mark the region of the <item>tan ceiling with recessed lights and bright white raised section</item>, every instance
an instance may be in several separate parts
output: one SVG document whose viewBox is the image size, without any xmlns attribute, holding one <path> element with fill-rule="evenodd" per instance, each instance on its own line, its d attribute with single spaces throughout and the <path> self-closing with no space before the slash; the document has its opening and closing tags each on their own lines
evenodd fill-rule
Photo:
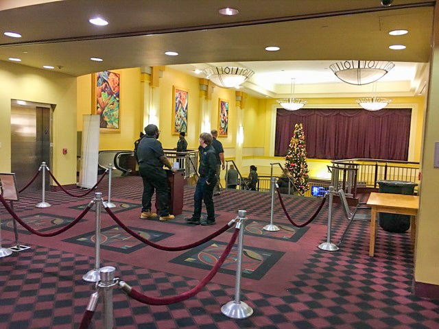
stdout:
<svg viewBox="0 0 439 329">
<path fill-rule="evenodd" d="M 226 62 L 255 72 L 243 90 L 256 97 L 287 97 L 292 77 L 300 97 L 368 95 L 371 85 L 340 82 L 329 65 L 390 60 L 396 65 L 377 83 L 377 95 L 413 96 L 428 79 L 435 2 L 394 0 L 384 7 L 380 0 L 3 0 L 0 60 L 52 65 L 73 76 L 156 65 L 196 75 L 195 69 Z M 239 14 L 219 14 L 226 6 Z M 91 25 L 94 16 L 109 24 Z M 390 36 L 393 29 L 409 33 Z M 6 31 L 22 37 L 4 36 Z M 388 48 L 394 44 L 407 48 Z M 281 49 L 265 51 L 272 45 Z"/>
</svg>

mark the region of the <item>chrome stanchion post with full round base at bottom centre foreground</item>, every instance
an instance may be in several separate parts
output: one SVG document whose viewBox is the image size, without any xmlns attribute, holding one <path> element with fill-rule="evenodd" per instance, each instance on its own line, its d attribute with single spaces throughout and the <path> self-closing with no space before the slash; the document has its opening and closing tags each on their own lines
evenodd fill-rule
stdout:
<svg viewBox="0 0 439 329">
<path fill-rule="evenodd" d="M 253 309 L 246 303 L 241 302 L 241 269 L 242 269 L 242 249 L 244 244 L 244 221 L 246 220 L 246 210 L 238 210 L 239 221 L 236 228 L 239 228 L 238 241 L 238 264 L 236 269 L 235 300 L 224 304 L 221 313 L 232 319 L 246 319 L 253 314 Z"/>
</svg>

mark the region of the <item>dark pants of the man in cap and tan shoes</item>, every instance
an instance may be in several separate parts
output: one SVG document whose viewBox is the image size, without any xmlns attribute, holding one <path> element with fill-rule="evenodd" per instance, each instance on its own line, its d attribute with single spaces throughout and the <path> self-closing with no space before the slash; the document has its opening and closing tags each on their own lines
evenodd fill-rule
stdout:
<svg viewBox="0 0 439 329">
<path fill-rule="evenodd" d="M 169 186 L 165 170 L 141 163 L 139 171 L 143 180 L 142 212 L 151 210 L 151 198 L 155 190 L 158 215 L 169 215 Z"/>
</svg>

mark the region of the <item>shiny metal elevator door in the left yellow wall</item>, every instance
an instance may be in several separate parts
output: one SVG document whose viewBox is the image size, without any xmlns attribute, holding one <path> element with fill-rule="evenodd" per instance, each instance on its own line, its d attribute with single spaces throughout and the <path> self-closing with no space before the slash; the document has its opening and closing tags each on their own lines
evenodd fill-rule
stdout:
<svg viewBox="0 0 439 329">
<path fill-rule="evenodd" d="M 41 162 L 50 168 L 50 109 L 38 106 L 11 106 L 11 169 L 17 189 L 32 180 Z M 41 173 L 28 191 L 40 191 Z M 49 175 L 46 173 L 46 188 Z"/>
</svg>

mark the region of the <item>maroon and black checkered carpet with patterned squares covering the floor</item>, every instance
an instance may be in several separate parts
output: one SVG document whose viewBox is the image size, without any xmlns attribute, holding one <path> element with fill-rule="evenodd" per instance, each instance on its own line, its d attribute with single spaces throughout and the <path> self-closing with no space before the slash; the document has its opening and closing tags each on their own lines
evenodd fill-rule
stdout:
<svg viewBox="0 0 439 329">
<path fill-rule="evenodd" d="M 104 198 L 106 182 L 97 188 Z M 324 252 L 317 246 L 327 239 L 327 206 L 309 226 L 297 229 L 285 219 L 276 199 L 273 219 L 281 231 L 266 232 L 261 228 L 270 221 L 270 195 L 224 190 L 214 198 L 216 226 L 187 226 L 184 217 L 193 210 L 193 187 L 185 187 L 183 214 L 167 222 L 138 218 L 141 188 L 139 177 L 114 178 L 112 202 L 117 208 L 112 210 L 132 230 L 162 245 L 201 239 L 235 218 L 237 210 L 247 210 L 241 299 L 254 314 L 235 320 L 220 312 L 234 298 L 234 249 L 222 271 L 185 302 L 145 306 L 116 290 L 117 328 L 439 328 L 439 300 L 412 294 L 410 232 L 379 229 L 371 258 L 368 222 L 355 221 L 340 251 Z M 30 226 L 47 232 L 75 219 L 93 193 L 78 199 L 62 191 L 46 192 L 51 207 L 34 208 L 40 199 L 41 195 L 24 192 L 14 209 Z M 297 223 L 306 221 L 320 204 L 319 199 L 292 196 L 285 196 L 284 202 Z M 3 207 L 0 218 L 3 247 L 10 247 L 14 234 Z M 361 210 L 358 218 L 368 219 L 368 210 Z M 335 204 L 333 243 L 340 241 L 346 225 L 342 208 Z M 89 212 L 77 226 L 53 238 L 23 234 L 19 227 L 20 242 L 31 249 L 0 258 L 0 328 L 78 328 L 93 292 L 93 285 L 82 276 L 95 262 L 94 226 L 95 212 Z M 102 265 L 115 266 L 118 277 L 151 296 L 176 295 L 195 287 L 231 236 L 229 230 L 202 247 L 163 252 L 133 240 L 106 214 L 102 234 L 106 236 Z M 93 318 L 96 328 L 102 326 L 101 307 L 99 303 Z"/>
</svg>

